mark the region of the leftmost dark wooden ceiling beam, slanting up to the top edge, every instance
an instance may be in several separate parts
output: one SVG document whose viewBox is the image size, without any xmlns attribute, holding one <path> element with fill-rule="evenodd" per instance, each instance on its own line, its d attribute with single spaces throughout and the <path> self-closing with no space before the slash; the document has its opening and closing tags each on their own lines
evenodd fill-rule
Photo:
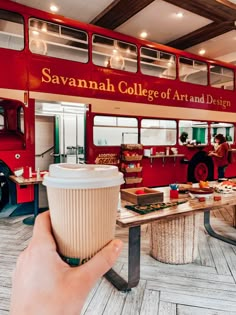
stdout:
<svg viewBox="0 0 236 315">
<path fill-rule="evenodd" d="M 116 0 L 90 24 L 114 30 L 155 0 Z"/>
</svg>

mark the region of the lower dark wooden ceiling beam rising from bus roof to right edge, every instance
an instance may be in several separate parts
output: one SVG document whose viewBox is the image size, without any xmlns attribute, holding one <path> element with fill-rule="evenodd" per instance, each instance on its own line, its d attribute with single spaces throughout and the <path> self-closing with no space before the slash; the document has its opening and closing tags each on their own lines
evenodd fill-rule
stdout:
<svg viewBox="0 0 236 315">
<path fill-rule="evenodd" d="M 213 22 L 208 24 L 192 33 L 189 33 L 183 37 L 166 43 L 167 46 L 171 46 L 178 49 L 187 49 L 194 45 L 205 42 L 211 38 L 230 32 L 235 29 L 233 21 L 217 23 Z"/>
</svg>

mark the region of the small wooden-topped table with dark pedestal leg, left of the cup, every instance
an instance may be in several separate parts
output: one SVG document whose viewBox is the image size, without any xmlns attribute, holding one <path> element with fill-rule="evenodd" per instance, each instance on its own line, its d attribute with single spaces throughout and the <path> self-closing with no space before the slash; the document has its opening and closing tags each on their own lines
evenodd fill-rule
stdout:
<svg viewBox="0 0 236 315">
<path fill-rule="evenodd" d="M 34 225 L 34 221 L 38 215 L 39 212 L 39 184 L 42 183 L 43 181 L 43 177 L 31 177 L 29 179 L 26 179 L 22 176 L 14 176 L 14 175 L 10 175 L 9 179 L 14 182 L 16 185 L 34 185 L 34 215 L 30 216 L 28 218 L 25 218 L 23 220 L 23 223 L 26 225 Z"/>
</svg>

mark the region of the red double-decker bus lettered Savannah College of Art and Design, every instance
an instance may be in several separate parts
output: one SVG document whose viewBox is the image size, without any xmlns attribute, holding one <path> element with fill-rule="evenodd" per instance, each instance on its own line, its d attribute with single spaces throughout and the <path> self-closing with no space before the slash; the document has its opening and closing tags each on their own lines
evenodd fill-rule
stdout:
<svg viewBox="0 0 236 315">
<path fill-rule="evenodd" d="M 7 177 L 27 165 L 120 165 L 121 144 L 141 143 L 142 185 L 160 186 L 215 179 L 217 133 L 234 151 L 234 65 L 7 0 L 0 21 L 2 207 Z"/>
</svg>

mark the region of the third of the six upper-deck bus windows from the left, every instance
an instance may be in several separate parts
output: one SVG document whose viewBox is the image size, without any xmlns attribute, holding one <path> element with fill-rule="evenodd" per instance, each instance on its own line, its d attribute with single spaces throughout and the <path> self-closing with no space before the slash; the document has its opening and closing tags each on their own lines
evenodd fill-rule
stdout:
<svg viewBox="0 0 236 315">
<path fill-rule="evenodd" d="M 137 47 L 133 44 L 93 35 L 92 56 L 97 66 L 137 72 Z"/>
</svg>

